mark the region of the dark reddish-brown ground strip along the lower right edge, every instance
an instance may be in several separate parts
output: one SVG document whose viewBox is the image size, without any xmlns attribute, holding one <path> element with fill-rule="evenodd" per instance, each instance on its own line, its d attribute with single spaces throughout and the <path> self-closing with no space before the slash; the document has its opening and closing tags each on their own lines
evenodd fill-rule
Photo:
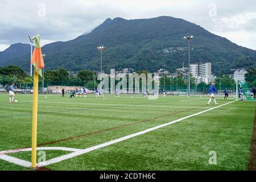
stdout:
<svg viewBox="0 0 256 182">
<path fill-rule="evenodd" d="M 248 171 L 256 171 L 256 106 L 253 123 L 253 135 L 251 136 L 250 158 L 247 169 Z"/>
</svg>

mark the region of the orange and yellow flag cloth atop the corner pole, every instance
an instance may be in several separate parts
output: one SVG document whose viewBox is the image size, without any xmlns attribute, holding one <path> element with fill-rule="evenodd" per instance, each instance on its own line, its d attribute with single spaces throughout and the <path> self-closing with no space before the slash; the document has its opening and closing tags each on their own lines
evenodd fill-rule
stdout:
<svg viewBox="0 0 256 182">
<path fill-rule="evenodd" d="M 35 41 L 35 49 L 31 57 L 31 64 L 34 65 L 35 71 L 42 77 L 42 69 L 44 68 L 44 61 L 42 56 L 42 49 L 40 46 L 40 35 L 36 35 L 32 38 Z"/>
</svg>

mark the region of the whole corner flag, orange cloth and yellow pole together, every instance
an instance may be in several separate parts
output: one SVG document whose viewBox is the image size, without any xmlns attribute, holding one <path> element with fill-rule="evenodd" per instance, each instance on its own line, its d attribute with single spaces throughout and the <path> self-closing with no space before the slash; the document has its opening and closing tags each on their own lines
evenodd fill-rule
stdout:
<svg viewBox="0 0 256 182">
<path fill-rule="evenodd" d="M 36 35 L 31 40 L 35 41 L 35 49 L 31 58 L 31 64 L 34 65 L 34 83 L 33 83 L 33 107 L 32 107 L 32 150 L 31 167 L 36 167 L 36 137 L 38 125 L 38 78 L 42 76 L 44 61 L 40 46 L 40 35 Z"/>
</svg>

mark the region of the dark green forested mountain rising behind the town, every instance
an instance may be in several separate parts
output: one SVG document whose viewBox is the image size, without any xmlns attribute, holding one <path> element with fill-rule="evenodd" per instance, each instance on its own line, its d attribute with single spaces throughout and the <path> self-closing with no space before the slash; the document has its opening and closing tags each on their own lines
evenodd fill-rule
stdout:
<svg viewBox="0 0 256 182">
<path fill-rule="evenodd" d="M 237 46 L 226 38 L 214 35 L 196 24 L 170 16 L 151 19 L 126 20 L 106 19 L 89 34 L 68 42 L 56 42 L 44 46 L 46 69 L 58 67 L 69 71 L 80 69 L 100 70 L 100 51 L 105 46 L 102 68 L 134 68 L 157 71 L 166 64 L 174 72 L 185 61 L 188 64 L 188 48 L 184 36 L 193 35 L 191 63 L 212 62 L 213 71 L 218 72 L 217 61 L 223 61 L 222 71 L 231 73 L 233 68 L 255 66 L 256 51 Z M 28 51 L 29 53 L 29 51 Z M 19 65 L 28 71 L 30 55 L 12 59 L 6 64 Z"/>
</svg>

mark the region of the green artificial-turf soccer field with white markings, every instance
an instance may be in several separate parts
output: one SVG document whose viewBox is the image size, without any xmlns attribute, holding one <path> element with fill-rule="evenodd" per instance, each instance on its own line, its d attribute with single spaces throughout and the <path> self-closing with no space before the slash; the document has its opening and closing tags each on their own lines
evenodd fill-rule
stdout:
<svg viewBox="0 0 256 182">
<path fill-rule="evenodd" d="M 31 147 L 32 95 L 15 99 L 0 94 L 0 170 L 30 170 L 31 151 L 20 148 Z M 38 158 L 45 152 L 49 170 L 247 170 L 255 102 L 208 100 L 40 95 Z"/>
</svg>

